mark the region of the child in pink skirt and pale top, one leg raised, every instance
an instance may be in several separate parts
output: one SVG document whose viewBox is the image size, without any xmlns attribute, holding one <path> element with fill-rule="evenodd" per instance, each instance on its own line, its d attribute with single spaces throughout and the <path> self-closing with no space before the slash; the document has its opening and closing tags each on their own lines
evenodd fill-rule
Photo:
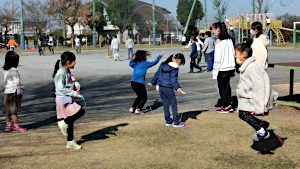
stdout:
<svg viewBox="0 0 300 169">
<path fill-rule="evenodd" d="M 80 91 L 80 84 L 71 76 L 70 69 L 74 69 L 76 64 L 75 55 L 71 52 L 64 52 L 60 59 L 56 62 L 53 78 L 55 83 L 56 95 L 56 111 L 58 126 L 63 133 L 67 136 L 67 148 L 81 149 L 73 140 L 74 134 L 74 121 L 84 115 L 85 111 L 74 102 L 71 97 L 78 97 Z M 61 63 L 61 67 L 59 67 Z M 74 90 L 76 88 L 76 90 Z"/>
</svg>

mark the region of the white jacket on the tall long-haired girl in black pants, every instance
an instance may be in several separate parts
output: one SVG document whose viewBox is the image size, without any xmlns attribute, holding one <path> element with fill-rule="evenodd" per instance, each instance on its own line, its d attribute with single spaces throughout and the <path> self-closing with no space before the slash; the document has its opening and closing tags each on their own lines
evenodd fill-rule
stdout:
<svg viewBox="0 0 300 169">
<path fill-rule="evenodd" d="M 219 71 L 235 69 L 235 51 L 231 39 L 222 40 L 215 45 L 213 79 L 217 79 Z"/>
</svg>

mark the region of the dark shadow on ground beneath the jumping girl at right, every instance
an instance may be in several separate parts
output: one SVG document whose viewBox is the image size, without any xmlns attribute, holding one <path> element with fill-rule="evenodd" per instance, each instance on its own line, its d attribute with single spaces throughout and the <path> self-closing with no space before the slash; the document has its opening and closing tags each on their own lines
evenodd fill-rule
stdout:
<svg viewBox="0 0 300 169">
<path fill-rule="evenodd" d="M 251 148 L 259 151 L 261 154 L 274 154 L 272 151 L 282 147 L 287 138 L 281 138 L 275 134 L 273 130 L 268 130 L 268 132 L 270 133 L 269 138 L 260 141 L 254 141 Z"/>
</svg>

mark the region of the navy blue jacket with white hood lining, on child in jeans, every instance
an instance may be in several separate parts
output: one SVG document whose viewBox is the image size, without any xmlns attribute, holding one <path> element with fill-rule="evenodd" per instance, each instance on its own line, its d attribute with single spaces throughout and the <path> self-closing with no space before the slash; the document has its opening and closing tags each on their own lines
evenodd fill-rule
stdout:
<svg viewBox="0 0 300 169">
<path fill-rule="evenodd" d="M 179 70 L 178 67 L 179 66 L 175 62 L 170 62 L 168 64 L 162 63 L 159 66 L 158 71 L 155 73 L 151 84 L 158 84 L 159 86 L 170 87 L 175 90 L 179 89 L 180 86 L 177 82 Z"/>
</svg>

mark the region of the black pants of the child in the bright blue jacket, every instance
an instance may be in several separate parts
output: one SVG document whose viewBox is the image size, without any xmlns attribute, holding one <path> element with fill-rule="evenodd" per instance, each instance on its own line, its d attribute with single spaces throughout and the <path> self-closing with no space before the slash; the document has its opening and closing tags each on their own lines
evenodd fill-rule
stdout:
<svg viewBox="0 0 300 169">
<path fill-rule="evenodd" d="M 132 107 L 142 109 L 147 101 L 147 91 L 145 85 L 142 83 L 137 83 L 131 81 L 131 87 L 135 91 L 136 95 L 138 96 L 134 102 Z"/>
</svg>

